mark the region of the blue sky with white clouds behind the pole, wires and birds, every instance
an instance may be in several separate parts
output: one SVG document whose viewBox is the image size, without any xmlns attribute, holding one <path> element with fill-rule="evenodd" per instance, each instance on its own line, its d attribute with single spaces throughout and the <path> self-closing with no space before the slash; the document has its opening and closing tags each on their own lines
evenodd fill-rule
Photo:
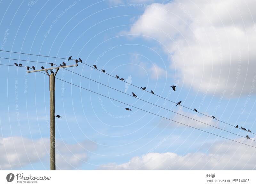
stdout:
<svg viewBox="0 0 256 186">
<path fill-rule="evenodd" d="M 253 0 L 0 1 L 1 50 L 18 52 L 0 51 L 0 64 L 41 69 L 63 61 L 19 52 L 81 58 L 255 132 L 254 5 Z M 57 78 L 79 87 L 56 79 L 55 113 L 62 116 L 56 118 L 57 170 L 256 169 L 254 134 L 82 63 L 68 70 L 123 93 L 59 70 Z M 48 170 L 48 76 L 4 65 L 0 72 L 0 170 Z M 165 109 L 124 94 L 132 92 Z"/>
</svg>

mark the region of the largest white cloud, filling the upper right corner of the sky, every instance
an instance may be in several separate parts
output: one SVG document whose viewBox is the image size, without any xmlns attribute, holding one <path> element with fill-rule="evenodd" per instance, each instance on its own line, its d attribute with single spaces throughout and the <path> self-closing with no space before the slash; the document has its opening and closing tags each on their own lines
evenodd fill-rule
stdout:
<svg viewBox="0 0 256 186">
<path fill-rule="evenodd" d="M 170 67 L 187 86 L 248 94 L 256 78 L 255 1 L 175 0 L 151 4 L 129 33 L 164 44 Z M 145 37 L 146 38 L 146 37 Z"/>
</svg>

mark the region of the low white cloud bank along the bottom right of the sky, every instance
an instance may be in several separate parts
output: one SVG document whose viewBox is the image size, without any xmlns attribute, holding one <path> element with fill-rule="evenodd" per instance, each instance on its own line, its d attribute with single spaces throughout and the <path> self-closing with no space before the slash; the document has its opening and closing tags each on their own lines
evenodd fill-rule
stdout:
<svg viewBox="0 0 256 186">
<path fill-rule="evenodd" d="M 238 141 L 250 144 L 247 139 Z M 253 145 L 253 143 L 251 143 Z M 209 145 L 208 145 L 209 146 Z M 105 170 L 256 170 L 256 149 L 236 142 L 215 142 L 209 153 L 148 153 L 129 162 L 102 165 Z"/>
</svg>

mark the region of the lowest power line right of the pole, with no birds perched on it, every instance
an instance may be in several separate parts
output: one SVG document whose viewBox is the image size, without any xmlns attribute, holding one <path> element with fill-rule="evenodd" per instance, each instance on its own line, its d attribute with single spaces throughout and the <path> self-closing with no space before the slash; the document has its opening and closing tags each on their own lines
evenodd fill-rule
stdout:
<svg viewBox="0 0 256 186">
<path fill-rule="evenodd" d="M 56 79 L 59 79 L 59 78 L 56 78 Z M 86 88 L 84 88 L 84 87 L 81 87 L 81 86 L 75 85 L 75 84 L 70 83 L 70 82 L 68 82 L 68 81 L 65 81 L 65 80 L 63 80 L 63 79 L 59 79 L 59 80 L 60 80 L 60 81 L 64 81 L 64 82 L 66 82 L 66 83 L 69 83 L 69 84 L 71 84 L 71 85 L 77 86 L 77 87 L 79 87 L 79 88 L 82 88 L 82 89 L 84 89 L 84 90 L 87 90 L 87 91 L 89 91 L 89 92 L 92 92 L 92 93 L 98 94 L 98 95 L 100 95 L 100 96 L 103 96 L 103 97 L 109 98 L 109 99 L 111 99 L 111 100 L 115 100 L 115 101 L 117 101 L 117 102 L 123 103 L 123 104 L 125 104 L 125 105 L 130 106 L 130 107 L 137 108 L 137 107 L 135 107 L 135 106 L 129 105 L 129 104 L 124 103 L 124 102 L 122 102 L 122 101 L 119 101 L 119 100 L 116 100 L 116 99 L 110 98 L 110 97 L 108 97 L 108 96 L 102 95 L 102 94 L 100 94 L 100 93 L 94 92 L 94 91 L 89 90 L 89 89 L 86 89 Z M 188 127 L 191 127 L 191 128 L 194 128 L 194 129 L 197 129 L 197 130 L 200 130 L 200 131 L 206 132 L 206 133 L 208 133 L 208 134 L 212 134 L 212 135 L 215 135 L 215 136 L 218 136 L 218 137 L 221 137 L 221 138 L 225 138 L 225 139 L 228 139 L 228 140 L 231 140 L 231 141 L 234 141 L 234 142 L 240 143 L 240 144 L 244 144 L 244 145 L 247 145 L 247 146 L 251 146 L 251 147 L 256 148 L 255 146 L 248 145 L 248 144 L 245 144 L 245 143 L 242 143 L 242 142 L 239 142 L 239 141 L 233 140 L 233 139 L 229 139 L 229 138 L 226 138 L 226 137 L 223 137 L 223 136 L 217 135 L 217 134 L 213 134 L 213 133 L 211 133 L 211 132 L 208 132 L 208 131 L 205 131 L 205 130 L 202 130 L 202 129 L 198 129 L 198 128 L 196 128 L 196 127 L 192 127 L 192 126 L 187 125 L 187 124 L 184 124 L 184 123 L 180 123 L 180 122 L 174 121 L 174 120 L 172 120 L 172 119 L 170 119 L 170 118 L 166 118 L 166 117 L 164 117 L 164 116 L 161 116 L 161 115 L 158 115 L 158 114 L 155 114 L 155 113 L 152 113 L 152 112 L 149 112 L 149 111 L 143 110 L 143 109 L 141 109 L 141 108 L 137 108 L 137 109 L 142 110 L 142 111 L 144 111 L 144 112 L 148 112 L 148 113 L 150 113 L 150 114 L 153 114 L 153 115 L 156 115 L 156 116 L 159 116 L 159 117 L 162 117 L 162 118 L 164 118 L 164 119 L 168 119 L 168 120 L 170 120 L 170 121 L 173 121 L 173 122 L 176 122 L 176 123 L 179 123 L 179 124 L 182 124 L 182 125 L 186 125 L 186 126 L 188 126 Z"/>
</svg>

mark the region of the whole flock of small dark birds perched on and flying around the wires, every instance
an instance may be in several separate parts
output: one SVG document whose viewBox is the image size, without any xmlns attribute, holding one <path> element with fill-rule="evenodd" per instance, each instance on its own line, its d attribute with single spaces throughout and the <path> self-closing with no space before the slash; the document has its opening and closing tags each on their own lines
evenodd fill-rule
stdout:
<svg viewBox="0 0 256 186">
<path fill-rule="evenodd" d="M 69 57 L 68 57 L 68 61 L 69 61 L 69 60 L 74 60 L 76 63 L 78 63 L 78 59 L 71 59 L 71 58 L 72 58 L 72 56 L 69 56 Z M 81 58 L 79 58 L 79 62 L 82 63 L 82 59 L 81 59 Z M 21 63 L 20 63 L 19 65 L 18 65 L 17 63 L 14 63 L 14 64 L 15 64 L 15 66 L 20 66 L 20 67 L 23 65 L 23 64 L 21 64 Z M 51 64 L 51 67 L 53 67 L 53 65 L 55 65 L 54 63 L 50 63 L 50 64 Z M 62 64 L 60 64 L 60 67 L 63 67 L 63 66 L 66 66 L 66 65 L 67 65 L 67 63 L 65 63 L 65 62 L 63 61 Z M 93 65 L 93 67 L 94 67 L 95 69 L 98 69 L 95 64 Z M 41 66 L 41 68 L 44 69 L 43 66 Z M 34 66 L 32 66 L 31 68 L 30 68 L 29 66 L 27 66 L 27 70 L 29 70 L 29 69 L 36 70 L 36 68 L 35 68 Z M 106 71 L 105 71 L 104 69 L 101 69 L 101 71 L 104 72 L 104 73 L 106 73 Z M 51 73 L 54 73 L 54 72 L 51 70 Z M 121 81 L 124 80 L 124 78 L 120 78 L 118 75 L 116 75 L 116 78 L 117 78 L 117 79 L 120 79 Z M 172 90 L 173 90 L 173 91 L 176 90 L 176 86 L 172 85 L 171 87 L 172 87 Z M 146 90 L 146 87 L 141 87 L 141 90 Z M 154 94 L 153 90 L 151 90 L 151 93 Z M 133 93 L 133 92 L 132 92 L 132 95 L 133 95 L 133 97 L 138 98 L 137 95 L 136 95 L 135 93 Z M 179 102 L 177 103 L 177 105 L 180 105 L 180 103 L 181 103 L 181 101 L 179 101 Z M 176 105 L 176 106 L 177 106 L 177 105 Z M 124 108 L 124 109 L 125 109 L 125 110 L 128 110 L 128 111 L 132 111 L 130 108 Z M 197 112 L 196 108 L 194 108 L 194 111 Z M 55 117 L 61 118 L 60 115 L 55 115 Z M 212 116 L 212 118 L 216 119 L 214 116 Z M 236 125 L 236 128 L 238 128 L 238 127 L 239 127 L 239 126 Z M 241 126 L 241 129 L 242 129 L 242 130 L 245 130 L 245 131 L 248 131 L 248 132 L 251 132 L 251 130 L 249 130 L 249 129 L 246 130 L 246 129 L 243 128 L 242 126 Z M 249 137 L 248 135 L 246 135 L 246 138 L 247 138 L 247 139 L 250 139 L 250 137 Z"/>
</svg>

